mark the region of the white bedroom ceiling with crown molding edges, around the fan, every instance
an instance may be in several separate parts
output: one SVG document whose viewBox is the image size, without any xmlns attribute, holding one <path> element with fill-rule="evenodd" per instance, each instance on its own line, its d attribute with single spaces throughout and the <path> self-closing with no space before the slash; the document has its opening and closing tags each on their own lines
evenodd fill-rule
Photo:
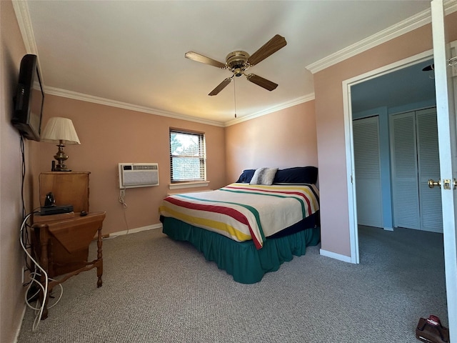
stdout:
<svg viewBox="0 0 457 343">
<path fill-rule="evenodd" d="M 313 74 L 430 21 L 430 1 L 16 1 L 45 93 L 210 124 L 233 124 L 313 99 Z M 378 34 L 381 32 L 381 34 Z M 184 58 L 225 63 L 275 34 L 287 45 L 249 69 L 273 91 Z M 384 38 L 384 41 L 386 39 Z M 236 114 L 234 120 L 235 93 Z"/>
</svg>

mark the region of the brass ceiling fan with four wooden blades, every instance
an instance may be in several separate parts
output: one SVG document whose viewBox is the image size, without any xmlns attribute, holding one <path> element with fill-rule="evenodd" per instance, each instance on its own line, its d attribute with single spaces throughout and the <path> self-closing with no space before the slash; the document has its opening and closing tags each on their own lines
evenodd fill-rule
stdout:
<svg viewBox="0 0 457 343">
<path fill-rule="evenodd" d="M 222 89 L 224 89 L 228 84 L 230 84 L 234 76 L 238 77 L 241 75 L 246 76 L 246 79 L 248 79 L 248 81 L 251 81 L 253 84 L 261 86 L 262 88 L 267 89 L 268 91 L 273 91 L 273 89 L 276 89 L 278 84 L 275 84 L 274 82 L 269 81 L 267 79 L 263 79 L 263 77 L 258 76 L 256 74 L 245 74 L 245 71 L 249 67 L 255 66 L 259 62 L 263 61 L 271 54 L 274 54 L 276 51 L 286 46 L 286 44 L 286 39 L 283 36 L 276 34 L 276 36 L 273 36 L 272 39 L 267 41 L 266 44 L 263 44 L 263 46 L 261 46 L 261 48 L 254 52 L 251 56 L 249 56 L 249 54 L 246 51 L 232 51 L 230 54 L 226 56 L 226 63 L 216 61 L 215 59 L 210 59 L 209 57 L 197 54 L 194 51 L 186 52 L 184 56 L 186 57 L 186 59 L 191 59 L 193 61 L 209 64 L 210 66 L 216 66 L 221 69 L 229 69 L 233 73 L 232 76 L 222 81 L 208 95 L 213 96 L 219 94 L 219 92 Z"/>
</svg>

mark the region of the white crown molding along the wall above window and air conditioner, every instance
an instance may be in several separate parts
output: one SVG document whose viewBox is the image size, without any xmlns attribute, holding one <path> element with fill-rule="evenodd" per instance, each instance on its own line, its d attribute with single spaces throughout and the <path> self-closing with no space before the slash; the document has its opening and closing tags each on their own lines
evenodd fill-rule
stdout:
<svg viewBox="0 0 457 343">
<path fill-rule="evenodd" d="M 184 114 L 176 114 L 174 112 L 162 111 L 160 109 L 153 109 L 151 107 L 138 106 L 138 105 L 128 104 L 126 102 L 101 98 L 99 96 L 82 94 L 82 93 L 78 93 L 76 91 L 67 91 L 65 89 L 58 89 L 58 88 L 54 88 L 54 87 L 44 86 L 44 93 L 49 94 L 49 95 L 62 96 L 64 98 L 69 98 L 69 99 L 74 99 L 74 100 L 92 102 L 94 104 L 118 107 L 119 109 L 129 109 L 131 111 L 155 114 L 157 116 L 167 116 L 169 118 L 174 118 L 174 119 L 194 121 L 194 122 L 200 123 L 200 124 L 224 127 L 224 124 L 221 123 L 220 121 L 206 120 L 206 119 L 196 118 L 194 116 L 186 116 Z"/>
</svg>

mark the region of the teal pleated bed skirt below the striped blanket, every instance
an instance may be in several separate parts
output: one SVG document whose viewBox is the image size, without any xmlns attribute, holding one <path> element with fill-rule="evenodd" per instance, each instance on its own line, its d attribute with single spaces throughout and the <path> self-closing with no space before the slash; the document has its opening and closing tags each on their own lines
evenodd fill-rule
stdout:
<svg viewBox="0 0 457 343">
<path fill-rule="evenodd" d="M 263 247 L 256 249 L 252 241 L 236 242 L 178 219 L 163 217 L 163 225 L 164 234 L 177 241 L 190 242 L 208 261 L 216 262 L 242 284 L 261 281 L 264 274 L 275 272 L 283 262 L 291 261 L 293 255 L 304 255 L 306 247 L 315 246 L 321 240 L 321 229 L 314 227 L 286 237 L 267 238 Z"/>
</svg>

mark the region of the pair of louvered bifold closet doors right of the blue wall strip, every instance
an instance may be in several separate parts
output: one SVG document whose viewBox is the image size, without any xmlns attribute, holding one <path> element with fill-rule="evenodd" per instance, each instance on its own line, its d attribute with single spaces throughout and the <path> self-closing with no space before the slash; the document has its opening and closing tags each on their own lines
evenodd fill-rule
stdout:
<svg viewBox="0 0 457 343">
<path fill-rule="evenodd" d="M 441 192 L 428 187 L 440 178 L 436 107 L 391 115 L 389 132 L 394 227 L 442 233 Z"/>
</svg>

